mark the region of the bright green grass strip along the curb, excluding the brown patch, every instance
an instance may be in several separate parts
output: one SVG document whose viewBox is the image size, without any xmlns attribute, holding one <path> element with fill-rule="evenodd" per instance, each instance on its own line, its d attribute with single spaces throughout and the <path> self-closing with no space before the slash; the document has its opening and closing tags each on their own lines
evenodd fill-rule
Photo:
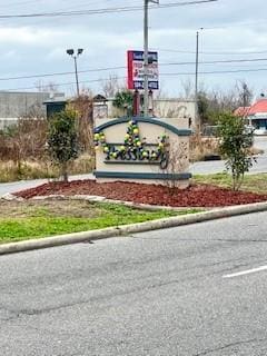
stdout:
<svg viewBox="0 0 267 356">
<path fill-rule="evenodd" d="M 32 209 L 24 209 L 28 212 L 23 217 L 14 217 L 12 219 L 0 217 L 0 244 L 83 230 L 96 230 L 201 211 L 201 209 L 148 211 L 122 205 L 99 202 L 90 204 L 90 209 L 97 211 L 96 216 L 91 218 L 60 217 L 59 212 L 55 215 L 48 207 L 39 207 L 34 210 L 34 214 L 32 214 Z"/>
</svg>

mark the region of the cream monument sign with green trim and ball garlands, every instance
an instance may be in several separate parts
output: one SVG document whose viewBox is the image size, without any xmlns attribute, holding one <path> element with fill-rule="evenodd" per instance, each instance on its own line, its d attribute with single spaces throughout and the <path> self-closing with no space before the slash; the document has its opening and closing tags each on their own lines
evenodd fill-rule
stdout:
<svg viewBox="0 0 267 356">
<path fill-rule="evenodd" d="M 187 172 L 190 130 L 178 126 L 178 119 L 135 117 L 97 120 L 96 178 L 157 184 L 176 179 L 182 187 L 187 186 L 190 178 Z M 179 150 L 182 148 L 182 162 L 176 168 L 170 160 L 177 147 Z"/>
</svg>

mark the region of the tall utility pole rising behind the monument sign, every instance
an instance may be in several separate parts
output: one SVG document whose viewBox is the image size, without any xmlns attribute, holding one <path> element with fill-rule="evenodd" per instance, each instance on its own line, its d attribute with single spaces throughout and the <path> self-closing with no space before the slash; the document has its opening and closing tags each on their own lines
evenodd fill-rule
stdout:
<svg viewBox="0 0 267 356">
<path fill-rule="evenodd" d="M 148 116 L 148 3 L 159 0 L 144 0 L 144 116 Z"/>
</svg>

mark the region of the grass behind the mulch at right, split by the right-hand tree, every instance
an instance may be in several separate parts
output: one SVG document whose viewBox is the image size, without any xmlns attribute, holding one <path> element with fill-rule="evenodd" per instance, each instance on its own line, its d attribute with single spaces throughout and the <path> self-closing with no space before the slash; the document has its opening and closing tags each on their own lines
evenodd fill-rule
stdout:
<svg viewBox="0 0 267 356">
<path fill-rule="evenodd" d="M 230 175 L 196 175 L 194 182 L 215 185 L 222 188 L 231 188 Z M 245 175 L 240 190 L 253 191 L 257 194 L 267 194 L 267 174 Z"/>
</svg>

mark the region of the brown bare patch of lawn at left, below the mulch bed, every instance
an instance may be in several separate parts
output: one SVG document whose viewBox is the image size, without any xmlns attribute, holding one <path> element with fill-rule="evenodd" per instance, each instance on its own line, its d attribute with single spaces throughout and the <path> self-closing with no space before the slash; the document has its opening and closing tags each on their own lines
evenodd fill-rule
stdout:
<svg viewBox="0 0 267 356">
<path fill-rule="evenodd" d="M 0 200 L 0 218 L 23 218 L 23 217 L 79 217 L 93 218 L 101 214 L 101 210 L 91 202 L 83 200 L 26 200 L 6 201 Z"/>
</svg>

